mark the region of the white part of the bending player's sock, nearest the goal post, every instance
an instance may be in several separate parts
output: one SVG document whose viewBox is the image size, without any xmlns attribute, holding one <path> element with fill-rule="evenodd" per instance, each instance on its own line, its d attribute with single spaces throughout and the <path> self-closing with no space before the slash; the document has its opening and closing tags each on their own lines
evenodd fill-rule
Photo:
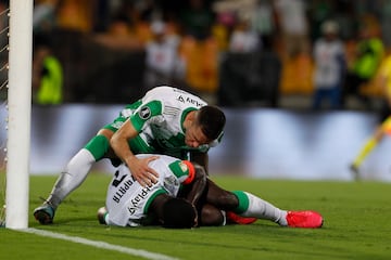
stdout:
<svg viewBox="0 0 391 260">
<path fill-rule="evenodd" d="M 70 193 L 76 190 L 86 180 L 93 162 L 96 160 L 92 154 L 86 148 L 80 150 L 58 178 L 48 198 L 50 205 L 56 208 Z"/>
</svg>

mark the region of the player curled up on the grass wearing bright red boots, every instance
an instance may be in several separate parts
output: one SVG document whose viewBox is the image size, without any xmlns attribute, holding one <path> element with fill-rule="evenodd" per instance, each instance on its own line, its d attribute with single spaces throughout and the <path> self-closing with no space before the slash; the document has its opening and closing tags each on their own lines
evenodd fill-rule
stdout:
<svg viewBox="0 0 391 260">
<path fill-rule="evenodd" d="M 119 166 L 109 185 L 105 207 L 98 211 L 100 223 L 138 226 L 152 223 L 168 225 L 168 221 L 172 227 L 189 227 L 189 223 L 193 226 L 224 225 L 226 212 L 235 212 L 252 218 L 252 222 L 265 219 L 281 226 L 320 227 L 323 224 L 321 216 L 315 211 L 286 211 L 251 193 L 225 191 L 212 182 L 203 167 L 197 164 L 159 155 L 149 166 L 159 172 L 159 180 L 147 187 L 131 177 L 129 168 Z M 184 203 L 179 205 L 180 199 L 174 199 L 180 196 L 195 206 L 192 207 L 194 214 L 190 213 L 191 207 L 184 206 Z M 174 202 L 171 207 L 175 210 L 167 210 L 167 202 Z"/>
</svg>

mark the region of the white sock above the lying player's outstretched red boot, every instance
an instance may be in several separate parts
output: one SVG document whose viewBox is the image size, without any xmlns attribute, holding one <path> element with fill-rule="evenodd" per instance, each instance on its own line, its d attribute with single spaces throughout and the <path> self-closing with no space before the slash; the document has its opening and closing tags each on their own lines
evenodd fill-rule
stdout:
<svg viewBox="0 0 391 260">
<path fill-rule="evenodd" d="M 251 193 L 244 192 L 244 194 L 249 197 L 249 208 L 241 216 L 272 220 L 279 225 L 288 225 L 286 210 L 281 210 Z"/>
</svg>

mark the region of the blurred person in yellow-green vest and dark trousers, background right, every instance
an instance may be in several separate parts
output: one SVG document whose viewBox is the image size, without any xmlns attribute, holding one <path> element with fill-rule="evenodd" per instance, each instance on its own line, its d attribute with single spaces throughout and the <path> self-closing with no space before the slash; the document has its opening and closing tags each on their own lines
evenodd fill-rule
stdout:
<svg viewBox="0 0 391 260">
<path fill-rule="evenodd" d="M 362 27 L 355 57 L 345 77 L 342 106 L 349 95 L 355 95 L 367 108 L 370 108 L 368 98 L 364 96 L 361 90 L 364 84 L 375 77 L 383 55 L 384 47 L 381 39 L 375 36 L 373 29 L 368 26 Z"/>
</svg>

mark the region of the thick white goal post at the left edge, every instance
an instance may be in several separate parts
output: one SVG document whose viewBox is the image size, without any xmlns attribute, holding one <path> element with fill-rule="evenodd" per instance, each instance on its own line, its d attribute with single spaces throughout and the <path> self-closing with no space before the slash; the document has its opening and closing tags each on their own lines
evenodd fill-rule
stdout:
<svg viewBox="0 0 391 260">
<path fill-rule="evenodd" d="M 28 227 L 34 0 L 10 0 L 5 227 Z"/>
</svg>

